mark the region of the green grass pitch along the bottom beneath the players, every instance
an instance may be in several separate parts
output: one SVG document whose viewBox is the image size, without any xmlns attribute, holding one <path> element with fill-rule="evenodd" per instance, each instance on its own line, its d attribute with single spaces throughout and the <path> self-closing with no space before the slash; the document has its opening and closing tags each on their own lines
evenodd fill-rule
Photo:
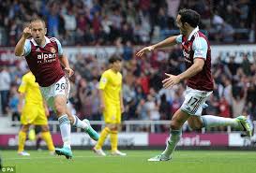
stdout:
<svg viewBox="0 0 256 173">
<path fill-rule="evenodd" d="M 173 160 L 152 163 L 147 158 L 160 151 L 126 151 L 128 156 L 100 157 L 92 151 L 73 151 L 74 157 L 49 155 L 47 151 L 1 151 L 4 166 L 16 173 L 255 173 L 256 151 L 175 151 Z M 109 152 L 107 152 L 109 153 Z"/>
</svg>

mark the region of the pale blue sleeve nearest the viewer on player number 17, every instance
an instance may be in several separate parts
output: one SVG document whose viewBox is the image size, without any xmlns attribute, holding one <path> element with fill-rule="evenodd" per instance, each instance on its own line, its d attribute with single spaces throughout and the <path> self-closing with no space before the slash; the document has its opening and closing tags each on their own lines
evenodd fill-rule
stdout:
<svg viewBox="0 0 256 173">
<path fill-rule="evenodd" d="M 194 50 L 194 58 L 203 58 L 206 60 L 208 45 L 203 37 L 196 37 L 193 41 L 192 49 Z"/>
</svg>

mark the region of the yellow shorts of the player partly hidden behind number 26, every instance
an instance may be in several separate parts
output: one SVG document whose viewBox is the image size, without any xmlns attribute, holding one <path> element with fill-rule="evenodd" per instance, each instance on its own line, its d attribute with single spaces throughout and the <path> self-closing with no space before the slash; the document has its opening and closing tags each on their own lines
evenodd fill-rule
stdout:
<svg viewBox="0 0 256 173">
<path fill-rule="evenodd" d="M 45 109 L 43 106 L 38 106 L 36 104 L 25 104 L 23 107 L 21 123 L 23 125 L 47 125 L 47 117 L 45 115 Z"/>
</svg>

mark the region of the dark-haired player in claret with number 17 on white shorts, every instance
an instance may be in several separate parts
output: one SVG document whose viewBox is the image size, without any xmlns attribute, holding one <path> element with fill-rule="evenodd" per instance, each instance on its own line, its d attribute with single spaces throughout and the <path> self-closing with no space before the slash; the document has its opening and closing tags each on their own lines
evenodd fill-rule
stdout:
<svg viewBox="0 0 256 173">
<path fill-rule="evenodd" d="M 199 22 L 200 15 L 196 11 L 181 9 L 176 18 L 176 24 L 181 35 L 168 37 L 136 53 L 138 57 L 142 57 L 147 51 L 181 44 L 187 65 L 185 72 L 177 76 L 166 74 L 167 78 L 162 81 L 163 87 L 166 89 L 172 88 L 173 85 L 185 79 L 187 79 L 188 86 L 183 105 L 173 115 L 171 134 L 165 151 L 148 159 L 148 161 L 168 161 L 172 158 L 173 151 L 181 137 L 182 125 L 187 120 L 193 129 L 231 125 L 251 136 L 249 124 L 244 116 L 238 116 L 235 119 L 213 115 L 201 116 L 204 102 L 213 93 L 213 79 L 211 75 L 211 49 L 206 36 L 199 31 Z"/>
</svg>

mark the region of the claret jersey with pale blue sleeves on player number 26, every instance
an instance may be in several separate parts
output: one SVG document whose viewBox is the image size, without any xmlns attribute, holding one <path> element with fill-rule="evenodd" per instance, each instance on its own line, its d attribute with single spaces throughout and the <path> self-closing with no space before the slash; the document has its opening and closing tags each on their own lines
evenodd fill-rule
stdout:
<svg viewBox="0 0 256 173">
<path fill-rule="evenodd" d="M 23 54 L 41 87 L 50 86 L 65 76 L 59 62 L 59 57 L 63 55 L 59 40 L 47 36 L 45 36 L 45 39 L 44 46 L 38 46 L 33 38 L 26 39 Z"/>
</svg>

